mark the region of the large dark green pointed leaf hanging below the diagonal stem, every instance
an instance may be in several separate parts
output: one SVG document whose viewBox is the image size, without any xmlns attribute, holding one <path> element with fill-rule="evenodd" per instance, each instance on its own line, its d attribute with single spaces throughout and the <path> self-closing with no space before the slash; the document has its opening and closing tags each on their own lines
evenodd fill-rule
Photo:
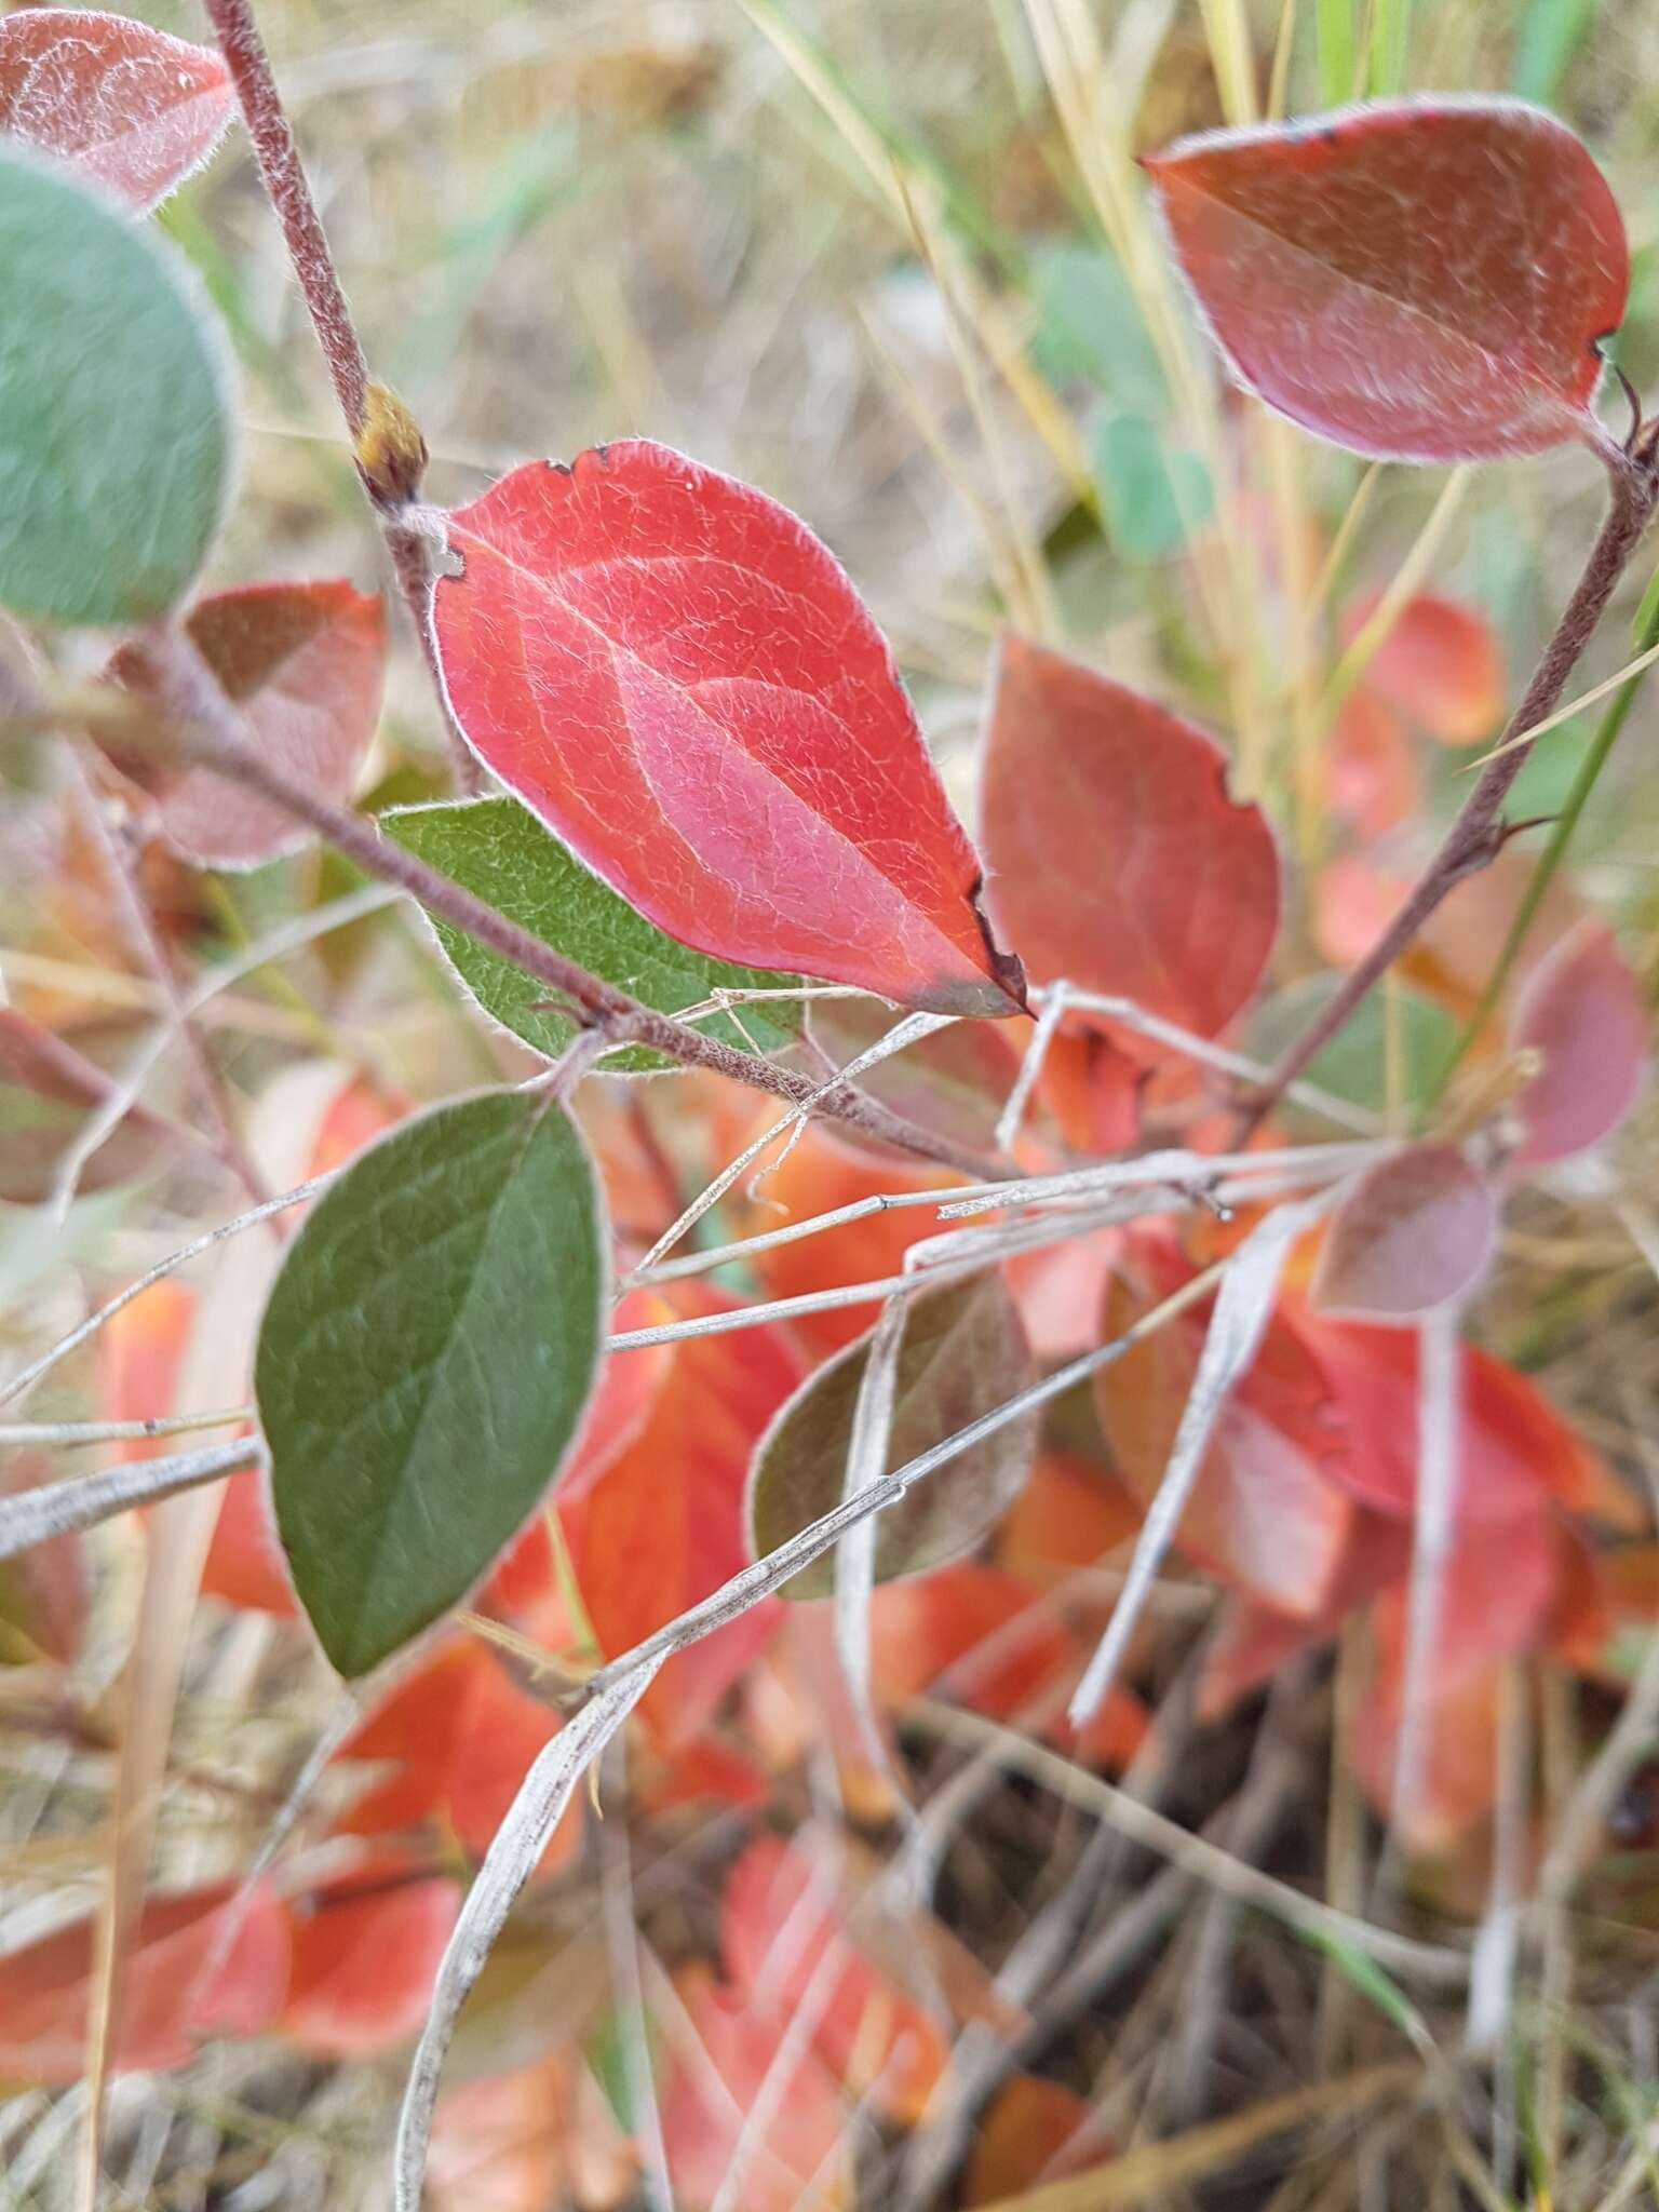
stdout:
<svg viewBox="0 0 1659 2212">
<path fill-rule="evenodd" d="M 254 1394 L 294 1588 L 341 1674 L 465 1597 L 553 1482 L 608 1294 L 593 1161 L 533 1093 L 405 1121 L 319 1201 Z"/>
</svg>

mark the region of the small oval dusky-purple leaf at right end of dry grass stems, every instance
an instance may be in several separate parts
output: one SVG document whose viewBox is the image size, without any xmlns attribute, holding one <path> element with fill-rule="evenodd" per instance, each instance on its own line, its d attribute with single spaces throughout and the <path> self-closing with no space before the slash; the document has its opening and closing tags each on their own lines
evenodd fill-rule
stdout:
<svg viewBox="0 0 1659 2212">
<path fill-rule="evenodd" d="M 1407 1321 L 1471 1290 L 1498 1243 L 1491 1183 L 1455 1144 L 1413 1144 L 1343 1199 L 1314 1276 L 1314 1305 Z"/>
</svg>

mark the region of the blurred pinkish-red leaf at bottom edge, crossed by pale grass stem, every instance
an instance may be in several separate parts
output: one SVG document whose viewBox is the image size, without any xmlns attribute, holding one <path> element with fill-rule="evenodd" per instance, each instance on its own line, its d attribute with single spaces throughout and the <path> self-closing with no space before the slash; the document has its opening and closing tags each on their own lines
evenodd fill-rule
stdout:
<svg viewBox="0 0 1659 2212">
<path fill-rule="evenodd" d="M 752 2126 L 787 2022 L 781 2011 L 761 2011 L 719 1989 L 701 1969 L 679 1975 L 679 2000 L 695 2044 L 688 2039 L 675 2055 L 661 2099 L 661 2137 L 675 2203 L 706 2212 L 721 2197 L 737 2146 Z M 852 2139 L 836 2084 L 810 2051 L 781 2064 L 783 2090 L 770 2101 L 743 2174 L 743 2212 L 845 2212 Z"/>
</svg>

